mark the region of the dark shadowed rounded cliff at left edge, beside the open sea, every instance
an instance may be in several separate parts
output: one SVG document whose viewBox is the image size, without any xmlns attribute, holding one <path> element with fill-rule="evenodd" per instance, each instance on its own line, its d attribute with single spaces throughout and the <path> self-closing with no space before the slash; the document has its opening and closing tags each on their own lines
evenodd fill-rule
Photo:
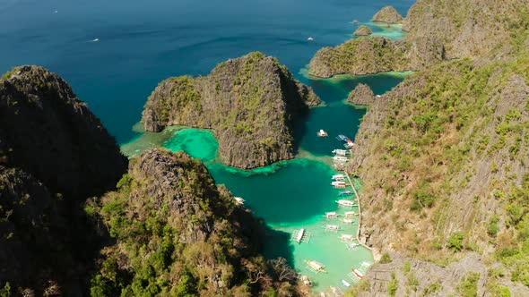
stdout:
<svg viewBox="0 0 529 297">
<path fill-rule="evenodd" d="M 126 170 L 116 141 L 57 74 L 37 66 L 0 80 L 0 157 L 68 199 L 114 187 Z"/>
</svg>

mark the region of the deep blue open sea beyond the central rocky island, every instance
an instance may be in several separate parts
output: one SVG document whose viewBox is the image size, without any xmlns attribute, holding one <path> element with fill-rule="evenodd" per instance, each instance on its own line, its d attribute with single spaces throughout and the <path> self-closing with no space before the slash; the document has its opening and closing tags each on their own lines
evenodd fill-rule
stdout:
<svg viewBox="0 0 529 297">
<path fill-rule="evenodd" d="M 58 72 L 123 143 L 169 76 L 207 74 L 256 50 L 297 74 L 317 49 L 350 38 L 352 20 L 367 22 L 386 4 L 404 15 L 412 2 L 2 0 L 0 72 L 21 64 Z"/>
</svg>

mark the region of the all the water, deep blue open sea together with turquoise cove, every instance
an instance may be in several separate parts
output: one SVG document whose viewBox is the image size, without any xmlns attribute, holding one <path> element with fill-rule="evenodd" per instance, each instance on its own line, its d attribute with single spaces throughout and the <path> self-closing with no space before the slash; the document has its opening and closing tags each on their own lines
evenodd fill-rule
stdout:
<svg viewBox="0 0 529 297">
<path fill-rule="evenodd" d="M 372 261 L 369 250 L 347 250 L 339 236 L 356 232 L 355 225 L 326 221 L 328 211 L 343 213 L 330 187 L 335 174 L 329 154 L 339 148 L 336 134 L 354 138 L 365 109 L 344 103 L 351 89 L 367 83 L 382 94 L 403 80 L 383 73 L 320 80 L 306 75 L 306 65 L 321 47 L 351 38 L 358 25 L 386 4 L 403 15 L 413 0 L 2 0 L 0 1 L 0 72 L 20 64 L 39 64 L 58 72 L 79 98 L 89 104 L 127 155 L 163 146 L 201 158 L 218 183 L 247 200 L 247 207 L 272 230 L 265 254 L 285 257 L 315 281 L 317 291 L 341 285 L 351 267 Z M 375 34 L 400 38 L 400 30 L 373 27 Z M 308 42 L 312 37 L 314 41 Z M 299 154 L 253 172 L 222 165 L 212 132 L 171 128 L 139 134 L 134 123 L 143 104 L 161 80 L 175 75 L 204 75 L 228 58 L 262 51 L 278 57 L 294 76 L 325 101 L 297 127 Z M 319 139 L 325 129 L 331 137 Z M 329 233 L 325 225 L 339 225 Z M 291 233 L 306 228 L 308 243 L 292 244 Z M 328 274 L 313 275 L 305 259 L 325 264 Z"/>
</svg>

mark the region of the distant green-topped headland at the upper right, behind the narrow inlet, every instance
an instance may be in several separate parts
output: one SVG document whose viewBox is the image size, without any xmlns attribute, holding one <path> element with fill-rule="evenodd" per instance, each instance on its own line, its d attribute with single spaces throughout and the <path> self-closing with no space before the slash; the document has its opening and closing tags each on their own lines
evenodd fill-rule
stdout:
<svg viewBox="0 0 529 297">
<path fill-rule="evenodd" d="M 396 54 L 390 55 L 395 55 L 402 63 L 372 67 L 371 59 L 359 57 L 375 55 L 379 47 L 366 47 L 364 49 L 372 53 L 359 53 L 354 48 L 345 47 L 354 42 L 350 40 L 334 50 L 324 48 L 318 51 L 310 63 L 309 72 L 330 77 L 343 72 L 367 74 L 385 69 L 420 71 L 455 58 L 492 59 L 508 55 L 516 47 L 524 47 L 516 44 L 517 36 L 513 31 L 525 26 L 525 20 L 529 18 L 527 7 L 528 0 L 418 0 L 403 21 L 403 30 L 408 31 L 405 38 L 387 41 L 393 45 L 386 45 L 386 48 L 399 48 Z M 337 61 L 349 66 L 329 67 Z"/>
</svg>

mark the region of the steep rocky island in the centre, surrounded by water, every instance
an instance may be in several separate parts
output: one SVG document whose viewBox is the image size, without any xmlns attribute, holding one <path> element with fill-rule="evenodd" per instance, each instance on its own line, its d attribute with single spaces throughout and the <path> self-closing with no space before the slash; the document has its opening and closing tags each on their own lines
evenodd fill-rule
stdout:
<svg viewBox="0 0 529 297">
<path fill-rule="evenodd" d="M 143 110 L 146 131 L 213 129 L 224 163 L 254 168 L 294 156 L 294 121 L 320 100 L 285 66 L 261 53 L 228 60 L 205 77 L 162 81 Z"/>
</svg>

